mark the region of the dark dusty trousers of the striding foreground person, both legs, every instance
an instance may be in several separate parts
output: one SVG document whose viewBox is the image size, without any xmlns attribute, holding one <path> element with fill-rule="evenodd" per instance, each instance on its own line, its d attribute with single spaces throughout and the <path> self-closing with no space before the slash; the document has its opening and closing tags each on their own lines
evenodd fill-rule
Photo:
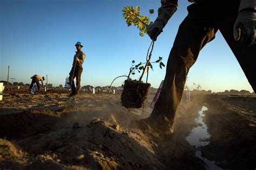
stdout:
<svg viewBox="0 0 256 170">
<path fill-rule="evenodd" d="M 218 30 L 230 46 L 253 90 L 256 91 L 256 45 L 246 47 L 233 38 L 233 25 L 238 16 L 238 7 L 238 0 L 233 0 L 226 6 L 207 4 L 188 6 L 188 15 L 179 26 L 167 61 L 163 88 L 151 118 L 163 119 L 172 127 L 175 112 L 183 95 L 188 70 L 196 62 L 200 50 L 207 42 L 214 39 Z M 215 50 L 218 49 L 213 49 L 213 52 Z"/>
</svg>

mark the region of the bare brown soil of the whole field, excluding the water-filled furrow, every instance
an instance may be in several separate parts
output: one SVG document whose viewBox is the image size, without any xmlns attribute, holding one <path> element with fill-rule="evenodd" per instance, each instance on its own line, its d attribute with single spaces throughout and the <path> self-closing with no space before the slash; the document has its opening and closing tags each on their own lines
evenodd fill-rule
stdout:
<svg viewBox="0 0 256 170">
<path fill-rule="evenodd" d="M 203 155 L 225 169 L 256 167 L 256 98 L 193 96 L 181 102 L 174 133 L 130 128 L 150 115 L 150 93 L 130 112 L 120 93 L 8 91 L 0 101 L 1 169 L 205 169 L 186 136 L 202 105 L 212 136 Z M 207 103 L 207 104 L 206 104 Z"/>
</svg>

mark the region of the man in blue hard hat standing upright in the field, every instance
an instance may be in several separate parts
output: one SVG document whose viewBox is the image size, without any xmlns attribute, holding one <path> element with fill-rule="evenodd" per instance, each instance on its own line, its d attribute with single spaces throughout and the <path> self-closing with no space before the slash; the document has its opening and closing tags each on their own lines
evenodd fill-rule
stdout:
<svg viewBox="0 0 256 170">
<path fill-rule="evenodd" d="M 80 80 L 81 80 L 81 75 L 83 72 L 82 66 L 83 66 L 84 59 L 85 59 L 85 54 L 84 54 L 84 52 L 81 51 L 81 48 L 83 47 L 82 43 L 77 42 L 77 44 L 75 46 L 77 48 L 77 51 L 76 51 L 76 54 L 73 59 L 73 66 L 69 73 L 69 81 L 70 81 L 71 90 L 72 90 L 72 93 L 70 94 L 70 96 L 77 95 L 79 93 Z M 75 87 L 75 82 L 74 82 L 75 77 L 76 77 L 76 86 L 77 87 Z"/>
</svg>

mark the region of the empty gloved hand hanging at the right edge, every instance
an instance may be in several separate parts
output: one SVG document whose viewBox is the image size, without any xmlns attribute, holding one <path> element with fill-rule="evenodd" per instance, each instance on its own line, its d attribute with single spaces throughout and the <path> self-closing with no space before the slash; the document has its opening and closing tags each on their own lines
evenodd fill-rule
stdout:
<svg viewBox="0 0 256 170">
<path fill-rule="evenodd" d="M 245 9 L 238 13 L 234 24 L 234 39 L 241 43 L 252 46 L 256 38 L 256 12 L 253 9 Z"/>
</svg>

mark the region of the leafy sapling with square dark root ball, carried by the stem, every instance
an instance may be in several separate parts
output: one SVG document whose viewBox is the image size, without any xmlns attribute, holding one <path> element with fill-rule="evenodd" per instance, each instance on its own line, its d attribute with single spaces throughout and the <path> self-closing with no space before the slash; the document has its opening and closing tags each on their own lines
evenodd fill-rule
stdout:
<svg viewBox="0 0 256 170">
<path fill-rule="evenodd" d="M 139 6 L 134 8 L 133 6 L 125 6 L 124 10 L 122 10 L 123 16 L 125 18 L 127 26 L 137 26 L 139 29 L 139 36 L 143 37 L 144 34 L 147 34 L 147 25 L 152 24 L 150 22 L 149 17 L 140 15 Z M 150 14 L 154 13 L 154 10 L 149 10 Z M 124 83 L 124 90 L 121 95 L 122 105 L 126 108 L 141 108 L 143 107 L 144 101 L 146 99 L 147 93 L 149 92 L 149 88 L 151 86 L 150 83 L 143 83 L 142 78 L 144 76 L 145 70 L 147 67 L 150 67 L 153 70 L 152 63 L 159 63 L 159 67 L 165 67 L 164 63 L 161 62 L 163 58 L 159 56 L 159 59 L 150 62 L 152 51 L 154 47 L 154 41 L 151 42 L 149 49 L 147 50 L 146 62 L 139 62 L 137 65 L 134 65 L 135 61 L 132 61 L 132 66 L 129 70 L 129 74 L 126 76 L 127 80 Z M 136 72 L 142 72 L 139 80 L 131 80 L 130 75 L 136 74 Z M 147 72 L 148 73 L 148 72 Z M 118 76 L 123 77 L 123 76 Z M 116 77 L 116 79 L 118 78 Z M 114 80 L 116 80 L 114 79 Z M 113 81 L 114 81 L 113 80 Z M 113 83 L 113 82 L 112 82 Z M 112 84 L 111 83 L 111 84 Z"/>
</svg>

